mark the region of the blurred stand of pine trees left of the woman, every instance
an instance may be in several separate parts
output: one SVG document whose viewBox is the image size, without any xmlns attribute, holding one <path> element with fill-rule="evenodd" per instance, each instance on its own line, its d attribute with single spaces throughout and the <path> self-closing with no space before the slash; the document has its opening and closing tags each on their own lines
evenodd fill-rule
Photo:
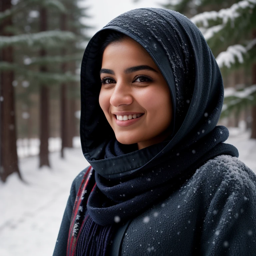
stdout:
<svg viewBox="0 0 256 256">
<path fill-rule="evenodd" d="M 50 138 L 60 139 L 52 147 L 64 158 L 79 136 L 80 63 L 90 39 L 81 17 L 87 8 L 74 0 L 0 2 L 2 181 L 13 172 L 22 178 L 19 156 L 38 154 L 39 167 L 50 167 Z"/>
</svg>

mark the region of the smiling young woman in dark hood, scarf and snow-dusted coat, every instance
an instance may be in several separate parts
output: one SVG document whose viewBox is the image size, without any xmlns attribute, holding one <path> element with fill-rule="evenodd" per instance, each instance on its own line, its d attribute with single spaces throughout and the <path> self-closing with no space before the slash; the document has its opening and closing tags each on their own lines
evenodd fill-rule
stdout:
<svg viewBox="0 0 256 256">
<path fill-rule="evenodd" d="M 256 176 L 223 143 L 220 70 L 178 12 L 128 11 L 89 41 L 82 150 L 57 255 L 256 255 Z"/>
</svg>

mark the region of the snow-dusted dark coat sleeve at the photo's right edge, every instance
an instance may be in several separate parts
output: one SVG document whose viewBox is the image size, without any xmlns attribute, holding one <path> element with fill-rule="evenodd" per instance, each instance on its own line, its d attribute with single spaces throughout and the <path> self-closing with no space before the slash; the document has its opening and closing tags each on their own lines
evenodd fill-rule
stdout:
<svg viewBox="0 0 256 256">
<path fill-rule="evenodd" d="M 205 190 L 201 255 L 256 255 L 256 175 L 237 158 L 232 161 L 219 163 L 213 173 L 221 179 L 212 176 Z"/>
</svg>

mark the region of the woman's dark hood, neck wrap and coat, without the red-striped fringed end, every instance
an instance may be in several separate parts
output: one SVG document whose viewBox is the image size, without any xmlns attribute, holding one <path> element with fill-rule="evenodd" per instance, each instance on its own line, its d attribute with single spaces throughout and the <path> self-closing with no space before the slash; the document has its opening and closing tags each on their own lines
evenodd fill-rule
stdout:
<svg viewBox="0 0 256 256">
<path fill-rule="evenodd" d="M 174 126 L 162 143 L 122 151 L 100 109 L 99 48 L 107 29 L 140 43 L 169 85 Z M 110 255 L 256 255 L 256 175 L 238 160 L 234 146 L 223 143 L 228 130 L 216 126 L 223 95 L 220 70 L 204 37 L 177 12 L 135 9 L 89 41 L 81 67 L 80 136 L 96 186 L 83 213 L 99 225 L 120 216 Z M 54 256 L 66 255 L 85 172 L 72 184 Z"/>
</svg>

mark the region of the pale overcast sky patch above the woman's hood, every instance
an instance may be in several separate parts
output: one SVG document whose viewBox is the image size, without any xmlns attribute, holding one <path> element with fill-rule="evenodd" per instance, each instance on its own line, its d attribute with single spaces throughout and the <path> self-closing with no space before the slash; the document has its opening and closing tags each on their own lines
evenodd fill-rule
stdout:
<svg viewBox="0 0 256 256">
<path fill-rule="evenodd" d="M 92 37 L 118 15 L 142 7 L 161 8 L 159 3 L 165 4 L 168 3 L 168 0 L 140 0 L 137 3 L 134 3 L 133 0 L 84 0 L 80 2 L 80 5 L 90 6 L 87 13 L 93 18 L 83 19 L 83 23 L 96 27 L 88 30 L 88 35 Z"/>
</svg>

